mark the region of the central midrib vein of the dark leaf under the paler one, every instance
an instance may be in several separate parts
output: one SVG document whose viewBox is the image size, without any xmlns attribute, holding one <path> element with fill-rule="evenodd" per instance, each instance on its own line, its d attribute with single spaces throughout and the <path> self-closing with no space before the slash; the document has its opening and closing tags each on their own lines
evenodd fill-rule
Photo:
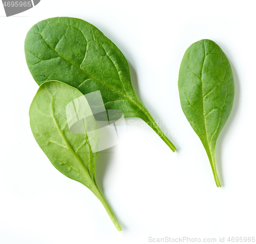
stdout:
<svg viewBox="0 0 256 244">
<path fill-rule="evenodd" d="M 100 84 L 102 84 L 103 86 L 108 87 L 110 90 L 114 91 L 115 93 L 119 94 L 120 96 L 126 97 L 126 98 L 129 99 L 134 105 L 136 105 L 136 106 L 139 107 L 144 113 L 146 113 L 146 112 L 144 111 L 144 109 L 143 109 L 138 103 L 136 103 L 130 96 L 128 96 L 127 94 L 123 94 L 122 92 L 116 90 L 115 88 L 111 87 L 110 85 L 108 85 L 108 84 L 106 84 L 106 83 L 104 83 L 104 82 L 102 82 L 102 81 L 96 79 L 95 77 L 89 75 L 87 72 L 83 71 L 80 66 L 78 66 L 78 65 L 76 65 L 76 64 L 74 64 L 74 63 L 72 63 L 71 61 L 69 61 L 68 59 L 66 59 L 66 58 L 63 57 L 62 55 L 60 55 L 54 48 L 52 48 L 52 47 L 49 45 L 49 43 L 44 39 L 44 37 L 42 37 L 42 34 L 39 32 L 39 29 L 38 29 L 38 34 L 41 36 L 42 40 L 44 40 L 44 41 L 46 42 L 46 44 L 49 46 L 49 48 L 50 48 L 51 50 L 53 50 L 60 58 L 62 58 L 63 60 L 69 62 L 71 65 L 75 66 L 77 69 L 79 69 L 79 70 L 82 71 L 84 74 L 86 74 L 90 79 L 93 79 L 93 80 L 99 82 Z M 107 55 L 107 56 L 108 56 L 108 55 Z M 113 62 L 113 61 L 112 61 L 112 62 Z M 83 83 L 83 82 L 82 82 L 82 83 Z M 122 82 L 121 82 L 121 83 L 122 83 Z"/>
</svg>

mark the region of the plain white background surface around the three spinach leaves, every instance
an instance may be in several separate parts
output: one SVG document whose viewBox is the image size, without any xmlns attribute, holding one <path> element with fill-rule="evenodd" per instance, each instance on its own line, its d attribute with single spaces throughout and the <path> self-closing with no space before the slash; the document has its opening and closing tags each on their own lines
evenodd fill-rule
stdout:
<svg viewBox="0 0 256 244">
<path fill-rule="evenodd" d="M 41 0 L 4 17 L 0 5 L 0 243 L 256 236 L 255 7 L 255 1 L 230 0 Z M 126 119 L 126 142 L 114 153 L 99 153 L 98 185 L 121 232 L 90 190 L 52 166 L 30 130 L 28 111 L 38 85 L 27 68 L 24 40 L 34 24 L 55 16 L 87 20 L 117 45 L 130 64 L 136 94 L 178 149 L 173 153 L 140 119 Z M 204 38 L 225 52 L 236 86 L 217 141 L 221 188 L 182 112 L 177 85 L 184 52 Z"/>
</svg>

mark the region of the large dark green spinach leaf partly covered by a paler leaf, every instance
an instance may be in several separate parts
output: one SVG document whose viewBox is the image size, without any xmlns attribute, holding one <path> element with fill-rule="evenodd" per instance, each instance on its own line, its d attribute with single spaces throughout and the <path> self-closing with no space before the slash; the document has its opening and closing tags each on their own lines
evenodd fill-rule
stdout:
<svg viewBox="0 0 256 244">
<path fill-rule="evenodd" d="M 106 109 L 119 109 L 124 117 L 144 120 L 170 149 L 176 150 L 137 98 L 125 57 L 93 25 L 70 17 L 42 20 L 27 34 L 25 55 L 39 85 L 59 80 L 83 94 L 100 90 Z"/>
</svg>

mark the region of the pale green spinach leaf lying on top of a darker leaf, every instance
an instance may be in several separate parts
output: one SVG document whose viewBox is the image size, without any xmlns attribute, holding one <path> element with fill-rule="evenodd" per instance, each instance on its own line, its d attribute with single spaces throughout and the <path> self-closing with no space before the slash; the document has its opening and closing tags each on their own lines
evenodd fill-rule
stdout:
<svg viewBox="0 0 256 244">
<path fill-rule="evenodd" d="M 121 231 L 121 227 L 96 183 L 97 152 L 92 152 L 92 143 L 89 142 L 87 134 L 74 134 L 69 129 L 70 121 L 66 118 L 66 107 L 77 98 L 87 102 L 81 92 L 68 84 L 60 81 L 48 81 L 41 84 L 29 109 L 30 126 L 36 142 L 54 167 L 68 178 L 87 186 L 98 197 L 116 229 Z M 83 111 L 85 109 L 83 106 L 77 106 L 76 113 L 78 114 L 81 110 L 82 114 L 93 115 L 89 104 L 86 108 L 86 111 Z M 91 116 L 91 123 L 93 123 L 92 118 L 93 116 Z M 93 143 L 97 144 L 98 141 L 99 138 L 95 134 Z"/>
</svg>

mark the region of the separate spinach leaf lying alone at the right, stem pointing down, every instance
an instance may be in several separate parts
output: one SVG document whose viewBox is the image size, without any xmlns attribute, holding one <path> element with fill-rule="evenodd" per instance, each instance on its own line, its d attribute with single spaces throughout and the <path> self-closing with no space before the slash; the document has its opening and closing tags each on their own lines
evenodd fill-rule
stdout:
<svg viewBox="0 0 256 244">
<path fill-rule="evenodd" d="M 182 110 L 204 145 L 219 187 L 215 145 L 232 109 L 234 80 L 226 55 L 214 41 L 203 39 L 186 50 L 178 85 Z"/>
</svg>

